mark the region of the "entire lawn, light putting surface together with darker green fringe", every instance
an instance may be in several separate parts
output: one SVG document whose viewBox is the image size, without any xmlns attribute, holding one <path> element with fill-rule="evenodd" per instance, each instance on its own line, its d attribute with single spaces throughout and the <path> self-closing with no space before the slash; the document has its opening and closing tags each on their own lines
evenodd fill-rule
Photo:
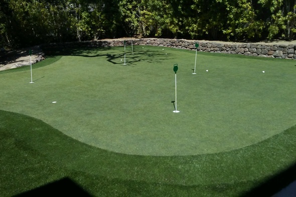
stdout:
<svg viewBox="0 0 296 197">
<path fill-rule="evenodd" d="M 95 196 L 241 196 L 294 164 L 294 61 L 198 52 L 193 75 L 195 51 L 126 52 L 47 52 L 33 84 L 0 72 L 0 195 L 68 177 Z"/>
</svg>

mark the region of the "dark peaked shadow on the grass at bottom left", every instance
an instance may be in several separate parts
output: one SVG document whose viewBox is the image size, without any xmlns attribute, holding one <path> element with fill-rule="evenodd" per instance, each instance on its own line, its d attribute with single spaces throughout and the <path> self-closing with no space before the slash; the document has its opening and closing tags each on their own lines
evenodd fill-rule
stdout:
<svg viewBox="0 0 296 197">
<path fill-rule="evenodd" d="M 23 196 L 92 196 L 68 177 L 51 182 L 41 187 L 15 195 Z"/>
</svg>

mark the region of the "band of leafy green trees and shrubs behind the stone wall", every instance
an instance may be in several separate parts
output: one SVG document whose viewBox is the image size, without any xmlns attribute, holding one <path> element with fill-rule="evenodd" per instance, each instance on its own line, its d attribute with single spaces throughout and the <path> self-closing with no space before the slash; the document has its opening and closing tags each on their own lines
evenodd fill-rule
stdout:
<svg viewBox="0 0 296 197">
<path fill-rule="evenodd" d="M 294 0 L 3 0 L 0 44 L 133 36 L 208 40 L 295 38 Z"/>
</svg>

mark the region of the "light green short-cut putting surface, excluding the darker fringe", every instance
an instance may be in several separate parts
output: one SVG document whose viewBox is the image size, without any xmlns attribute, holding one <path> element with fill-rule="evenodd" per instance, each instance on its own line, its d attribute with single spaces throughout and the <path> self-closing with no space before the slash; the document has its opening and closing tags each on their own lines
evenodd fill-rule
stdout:
<svg viewBox="0 0 296 197">
<path fill-rule="evenodd" d="M 162 49 L 127 48 L 125 66 L 123 47 L 65 55 L 34 69 L 34 84 L 29 70 L 2 72 L 1 109 L 136 155 L 230 151 L 296 124 L 294 61 L 198 53 L 193 75 L 194 51 Z"/>
</svg>

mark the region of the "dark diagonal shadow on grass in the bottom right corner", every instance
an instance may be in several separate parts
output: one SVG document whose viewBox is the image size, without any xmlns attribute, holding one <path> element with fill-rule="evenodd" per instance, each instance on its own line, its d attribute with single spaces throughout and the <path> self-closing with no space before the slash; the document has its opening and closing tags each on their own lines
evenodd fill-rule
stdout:
<svg viewBox="0 0 296 197">
<path fill-rule="evenodd" d="M 296 180 L 296 163 L 288 167 L 287 169 L 275 174 L 265 182 L 254 187 L 250 191 L 247 191 L 242 196 L 296 196 L 296 188 L 287 188 L 287 193 L 283 192 L 280 195 L 276 195 L 281 189 L 286 188 L 290 183 Z M 290 192 L 290 193 L 289 193 Z"/>
</svg>

